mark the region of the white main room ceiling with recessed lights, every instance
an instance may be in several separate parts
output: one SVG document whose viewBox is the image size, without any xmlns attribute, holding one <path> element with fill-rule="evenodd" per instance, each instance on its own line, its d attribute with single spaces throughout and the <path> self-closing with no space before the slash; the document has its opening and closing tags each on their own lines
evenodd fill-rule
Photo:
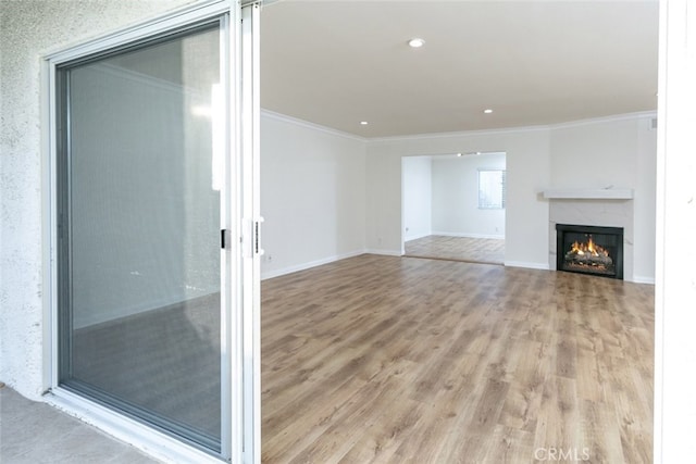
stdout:
<svg viewBox="0 0 696 464">
<path fill-rule="evenodd" d="M 262 108 L 362 137 L 654 111 L 657 65 L 658 0 L 282 0 L 261 15 Z"/>
</svg>

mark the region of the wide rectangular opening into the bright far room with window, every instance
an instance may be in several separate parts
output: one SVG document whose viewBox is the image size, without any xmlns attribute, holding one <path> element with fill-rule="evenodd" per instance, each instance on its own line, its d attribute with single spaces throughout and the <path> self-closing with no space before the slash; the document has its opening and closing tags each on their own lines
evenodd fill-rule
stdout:
<svg viewBox="0 0 696 464">
<path fill-rule="evenodd" d="M 506 153 L 403 156 L 406 256 L 505 263 Z"/>
</svg>

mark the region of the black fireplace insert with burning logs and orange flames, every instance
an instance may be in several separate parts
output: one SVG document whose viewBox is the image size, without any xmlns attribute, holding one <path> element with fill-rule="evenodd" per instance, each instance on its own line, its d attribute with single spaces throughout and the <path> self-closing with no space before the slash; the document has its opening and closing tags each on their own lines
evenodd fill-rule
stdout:
<svg viewBox="0 0 696 464">
<path fill-rule="evenodd" d="M 556 268 L 623 279 L 623 228 L 556 224 Z"/>
</svg>

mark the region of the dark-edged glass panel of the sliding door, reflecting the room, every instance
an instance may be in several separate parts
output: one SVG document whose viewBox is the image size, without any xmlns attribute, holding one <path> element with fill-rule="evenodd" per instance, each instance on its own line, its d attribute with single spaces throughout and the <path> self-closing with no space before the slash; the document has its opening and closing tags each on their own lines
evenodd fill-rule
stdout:
<svg viewBox="0 0 696 464">
<path fill-rule="evenodd" d="M 55 74 L 60 385 L 213 453 L 222 21 Z"/>
</svg>

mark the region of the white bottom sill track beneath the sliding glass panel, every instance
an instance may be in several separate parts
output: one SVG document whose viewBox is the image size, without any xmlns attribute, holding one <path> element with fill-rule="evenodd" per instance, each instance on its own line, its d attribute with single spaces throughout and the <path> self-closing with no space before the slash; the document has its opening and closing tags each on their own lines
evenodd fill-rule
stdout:
<svg viewBox="0 0 696 464">
<path fill-rule="evenodd" d="M 65 414 L 97 427 L 99 430 L 166 463 L 220 464 L 225 462 L 67 390 L 55 388 L 44 399 L 46 403 Z"/>
</svg>

